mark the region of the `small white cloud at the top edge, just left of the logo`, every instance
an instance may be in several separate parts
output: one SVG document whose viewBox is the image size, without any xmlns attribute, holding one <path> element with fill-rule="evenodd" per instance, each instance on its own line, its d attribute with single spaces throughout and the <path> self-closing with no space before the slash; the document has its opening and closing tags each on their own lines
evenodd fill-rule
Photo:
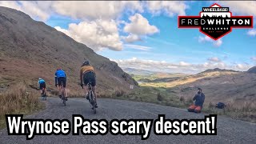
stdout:
<svg viewBox="0 0 256 144">
<path fill-rule="evenodd" d="M 147 1 L 146 7 L 151 14 L 167 14 L 170 17 L 186 15 L 185 10 L 189 8 L 185 2 L 178 1 Z"/>
</svg>

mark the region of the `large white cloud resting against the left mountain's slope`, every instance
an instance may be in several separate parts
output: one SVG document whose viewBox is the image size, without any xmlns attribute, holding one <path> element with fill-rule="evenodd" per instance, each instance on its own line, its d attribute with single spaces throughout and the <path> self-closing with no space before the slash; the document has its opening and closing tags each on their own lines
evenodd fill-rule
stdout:
<svg viewBox="0 0 256 144">
<path fill-rule="evenodd" d="M 102 48 L 122 50 L 122 42 L 114 20 L 98 19 L 92 22 L 71 23 L 68 30 L 59 26 L 56 26 L 55 29 L 74 38 L 77 42 L 86 44 L 93 50 L 102 50 Z"/>
</svg>

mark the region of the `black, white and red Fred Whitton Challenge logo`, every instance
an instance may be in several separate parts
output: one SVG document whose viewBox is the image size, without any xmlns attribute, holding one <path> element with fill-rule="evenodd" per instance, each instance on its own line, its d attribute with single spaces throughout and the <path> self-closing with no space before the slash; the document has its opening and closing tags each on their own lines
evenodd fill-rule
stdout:
<svg viewBox="0 0 256 144">
<path fill-rule="evenodd" d="M 178 16 L 178 28 L 199 28 L 202 34 L 218 40 L 232 28 L 253 28 L 253 16 L 233 16 L 229 7 L 215 3 L 202 7 L 198 16 Z"/>
</svg>

